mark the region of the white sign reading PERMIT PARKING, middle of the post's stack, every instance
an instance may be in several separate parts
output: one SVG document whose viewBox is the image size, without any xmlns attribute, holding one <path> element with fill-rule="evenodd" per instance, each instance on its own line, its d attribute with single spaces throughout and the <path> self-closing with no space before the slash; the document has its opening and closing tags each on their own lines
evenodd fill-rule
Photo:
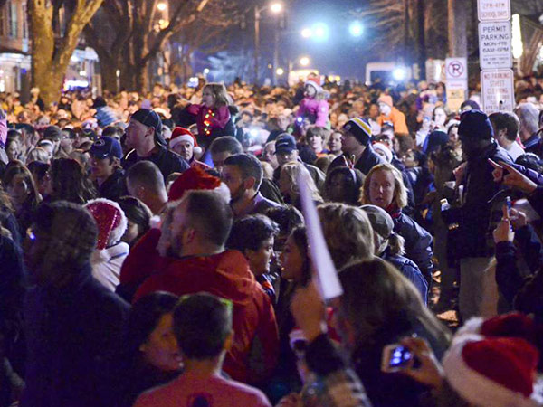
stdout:
<svg viewBox="0 0 543 407">
<path fill-rule="evenodd" d="M 497 70 L 513 66 L 509 21 L 479 24 L 479 56 L 481 70 Z"/>
</svg>

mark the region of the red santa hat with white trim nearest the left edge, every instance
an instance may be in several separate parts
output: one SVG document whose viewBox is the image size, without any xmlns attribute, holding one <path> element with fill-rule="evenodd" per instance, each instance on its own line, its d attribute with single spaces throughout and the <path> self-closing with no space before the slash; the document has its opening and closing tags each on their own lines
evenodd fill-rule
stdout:
<svg viewBox="0 0 543 407">
<path fill-rule="evenodd" d="M 120 241 L 127 230 L 127 217 L 119 204 L 109 199 L 92 199 L 85 208 L 90 212 L 98 225 L 98 243 L 96 249 L 102 251 Z"/>
</svg>

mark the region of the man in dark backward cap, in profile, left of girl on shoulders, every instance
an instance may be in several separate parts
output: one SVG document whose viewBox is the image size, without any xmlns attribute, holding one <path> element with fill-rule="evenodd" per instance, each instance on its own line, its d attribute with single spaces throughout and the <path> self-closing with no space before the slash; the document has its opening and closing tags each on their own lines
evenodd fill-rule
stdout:
<svg viewBox="0 0 543 407">
<path fill-rule="evenodd" d="M 126 144 L 133 148 L 122 163 L 126 171 L 138 161 L 147 160 L 158 166 L 166 180 L 167 175 L 182 173 L 189 168 L 181 156 L 167 149 L 166 140 L 162 137 L 162 120 L 153 110 L 139 109 L 131 116 Z"/>
</svg>

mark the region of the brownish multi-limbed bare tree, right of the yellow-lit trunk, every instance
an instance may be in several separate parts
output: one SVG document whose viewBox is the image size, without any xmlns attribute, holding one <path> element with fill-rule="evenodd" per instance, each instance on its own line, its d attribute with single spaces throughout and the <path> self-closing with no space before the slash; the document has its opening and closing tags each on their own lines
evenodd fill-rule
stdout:
<svg viewBox="0 0 543 407">
<path fill-rule="evenodd" d="M 225 13 L 235 2 L 170 2 L 174 8 L 162 24 L 158 24 L 157 4 L 158 0 L 108 0 L 85 29 L 85 38 L 99 55 L 105 88 L 116 88 L 119 70 L 122 87 L 148 90 L 148 63 L 162 52 L 167 40 L 188 30 L 201 31 L 208 38 L 210 22 L 214 21 L 214 28 L 232 24 Z"/>
</svg>

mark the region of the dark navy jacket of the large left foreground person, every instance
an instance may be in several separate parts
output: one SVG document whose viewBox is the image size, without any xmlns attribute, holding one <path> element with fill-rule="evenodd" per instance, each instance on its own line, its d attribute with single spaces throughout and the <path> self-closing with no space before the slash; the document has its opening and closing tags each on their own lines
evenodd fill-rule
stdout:
<svg viewBox="0 0 543 407">
<path fill-rule="evenodd" d="M 33 287 L 24 304 L 27 342 L 22 407 L 110 406 L 129 304 L 91 275 L 71 270 L 62 289 Z"/>
</svg>

